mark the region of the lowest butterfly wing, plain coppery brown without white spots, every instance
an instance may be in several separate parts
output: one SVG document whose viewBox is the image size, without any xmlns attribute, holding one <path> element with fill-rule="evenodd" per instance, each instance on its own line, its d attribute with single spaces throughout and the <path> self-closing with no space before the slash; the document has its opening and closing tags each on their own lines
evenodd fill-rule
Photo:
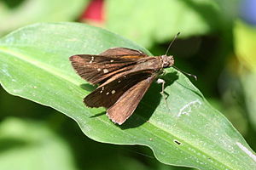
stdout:
<svg viewBox="0 0 256 170">
<path fill-rule="evenodd" d="M 147 92 L 149 86 L 154 81 L 156 76 L 156 74 L 153 74 L 151 77 L 137 82 L 137 84 L 125 91 L 117 102 L 108 108 L 108 117 L 119 125 L 125 122 L 125 120 L 132 115 L 133 111 L 135 111 L 137 105 L 143 98 L 143 95 Z"/>
</svg>

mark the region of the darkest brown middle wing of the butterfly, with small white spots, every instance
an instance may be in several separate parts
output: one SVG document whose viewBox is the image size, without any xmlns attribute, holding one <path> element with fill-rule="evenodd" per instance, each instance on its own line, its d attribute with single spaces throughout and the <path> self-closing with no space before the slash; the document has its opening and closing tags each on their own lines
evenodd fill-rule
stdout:
<svg viewBox="0 0 256 170">
<path fill-rule="evenodd" d="M 84 104 L 89 107 L 105 107 L 109 108 L 114 105 L 117 100 L 125 94 L 127 90 L 136 85 L 138 82 L 151 77 L 151 72 L 131 72 L 123 75 L 112 82 L 102 84 L 84 98 Z"/>
</svg>

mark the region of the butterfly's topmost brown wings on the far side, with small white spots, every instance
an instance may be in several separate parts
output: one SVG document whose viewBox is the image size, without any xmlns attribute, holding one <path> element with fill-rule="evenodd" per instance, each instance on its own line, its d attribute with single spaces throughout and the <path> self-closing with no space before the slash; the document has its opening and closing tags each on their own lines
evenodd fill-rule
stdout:
<svg viewBox="0 0 256 170">
<path fill-rule="evenodd" d="M 130 48 L 109 48 L 100 55 L 78 54 L 69 59 L 80 77 L 96 84 L 105 82 L 109 77 L 131 70 L 146 54 Z"/>
</svg>

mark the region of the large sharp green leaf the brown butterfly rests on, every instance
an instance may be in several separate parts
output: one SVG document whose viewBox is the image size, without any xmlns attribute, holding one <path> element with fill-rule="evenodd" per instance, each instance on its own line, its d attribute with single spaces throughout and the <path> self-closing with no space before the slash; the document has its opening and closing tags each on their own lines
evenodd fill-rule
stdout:
<svg viewBox="0 0 256 170">
<path fill-rule="evenodd" d="M 122 126 L 103 109 L 86 108 L 92 87 L 70 65 L 73 54 L 99 54 L 112 47 L 143 50 L 100 28 L 78 23 L 27 26 L 0 40 L 1 84 L 10 94 L 49 105 L 79 123 L 90 139 L 142 144 L 166 164 L 201 169 L 253 169 L 256 158 L 236 129 L 212 108 L 180 72 L 166 69 L 166 102 L 153 83 Z M 148 53 L 149 54 L 149 53 Z M 203 80 L 200 80 L 203 81 Z"/>
</svg>

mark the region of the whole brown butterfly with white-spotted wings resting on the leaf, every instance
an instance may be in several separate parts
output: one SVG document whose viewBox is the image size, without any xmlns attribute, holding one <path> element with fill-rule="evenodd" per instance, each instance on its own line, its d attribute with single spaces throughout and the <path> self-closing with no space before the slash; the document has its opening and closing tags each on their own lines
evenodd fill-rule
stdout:
<svg viewBox="0 0 256 170">
<path fill-rule="evenodd" d="M 119 125 L 135 111 L 163 69 L 174 64 L 172 56 L 148 56 L 130 48 L 109 48 L 99 55 L 77 54 L 69 59 L 80 77 L 99 84 L 84 104 L 107 108 L 109 119 Z"/>
</svg>

